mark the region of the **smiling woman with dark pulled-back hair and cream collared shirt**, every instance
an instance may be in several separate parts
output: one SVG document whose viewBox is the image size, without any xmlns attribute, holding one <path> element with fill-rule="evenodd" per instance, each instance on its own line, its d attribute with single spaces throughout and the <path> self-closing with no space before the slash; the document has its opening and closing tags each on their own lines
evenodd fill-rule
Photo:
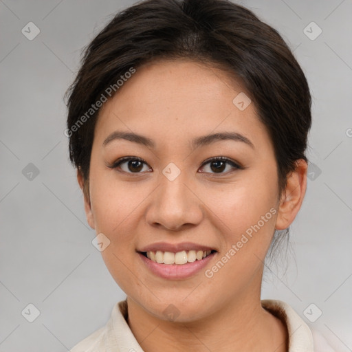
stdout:
<svg viewBox="0 0 352 352">
<path fill-rule="evenodd" d="M 73 352 L 313 351 L 287 303 L 261 300 L 311 126 L 276 30 L 230 1 L 138 3 L 87 47 L 68 109 L 87 221 L 126 293 Z"/>
</svg>

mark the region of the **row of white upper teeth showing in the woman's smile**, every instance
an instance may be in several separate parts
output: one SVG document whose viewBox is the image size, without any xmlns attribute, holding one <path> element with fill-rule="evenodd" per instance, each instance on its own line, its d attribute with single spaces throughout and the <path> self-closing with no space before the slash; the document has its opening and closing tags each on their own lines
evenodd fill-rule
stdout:
<svg viewBox="0 0 352 352">
<path fill-rule="evenodd" d="M 201 261 L 201 259 L 206 258 L 212 251 L 206 250 L 190 250 L 186 252 L 183 250 L 182 252 L 162 252 L 157 250 L 157 252 L 146 252 L 146 256 L 151 261 L 155 261 L 157 263 L 164 263 L 164 264 L 186 264 L 186 263 L 193 263 L 194 261 Z"/>
</svg>

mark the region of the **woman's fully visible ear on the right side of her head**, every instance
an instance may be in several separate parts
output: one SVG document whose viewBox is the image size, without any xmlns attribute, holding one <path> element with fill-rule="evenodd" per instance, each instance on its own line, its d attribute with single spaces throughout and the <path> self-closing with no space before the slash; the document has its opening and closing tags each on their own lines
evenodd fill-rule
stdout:
<svg viewBox="0 0 352 352">
<path fill-rule="evenodd" d="M 276 230 L 285 230 L 294 221 L 307 188 L 307 162 L 304 159 L 296 160 L 296 169 L 287 177 L 287 185 L 281 196 Z"/>
</svg>

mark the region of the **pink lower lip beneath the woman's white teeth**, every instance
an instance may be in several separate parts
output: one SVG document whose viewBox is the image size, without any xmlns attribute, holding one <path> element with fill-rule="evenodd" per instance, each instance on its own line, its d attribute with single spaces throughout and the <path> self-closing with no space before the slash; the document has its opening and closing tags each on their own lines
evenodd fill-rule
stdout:
<svg viewBox="0 0 352 352">
<path fill-rule="evenodd" d="M 141 253 L 138 253 L 140 259 L 148 267 L 153 274 L 160 276 L 162 278 L 167 278 L 169 280 L 181 280 L 183 278 L 189 278 L 200 272 L 203 267 L 205 267 L 214 257 L 214 253 L 209 254 L 206 258 L 201 259 L 200 261 L 194 261 L 192 263 L 186 264 L 160 264 L 155 261 L 151 261 L 146 256 Z"/>
</svg>

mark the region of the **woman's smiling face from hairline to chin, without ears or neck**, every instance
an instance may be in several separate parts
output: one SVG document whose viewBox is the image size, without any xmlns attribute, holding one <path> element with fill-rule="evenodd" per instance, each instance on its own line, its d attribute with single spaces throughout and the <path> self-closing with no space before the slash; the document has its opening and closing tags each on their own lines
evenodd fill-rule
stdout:
<svg viewBox="0 0 352 352">
<path fill-rule="evenodd" d="M 187 321 L 259 300 L 278 178 L 254 104 L 233 102 L 241 92 L 218 69 L 159 61 L 139 67 L 100 111 L 87 219 L 110 241 L 102 257 L 116 283 L 155 317 L 170 304 Z M 215 133 L 227 135 L 201 139 Z"/>
</svg>

